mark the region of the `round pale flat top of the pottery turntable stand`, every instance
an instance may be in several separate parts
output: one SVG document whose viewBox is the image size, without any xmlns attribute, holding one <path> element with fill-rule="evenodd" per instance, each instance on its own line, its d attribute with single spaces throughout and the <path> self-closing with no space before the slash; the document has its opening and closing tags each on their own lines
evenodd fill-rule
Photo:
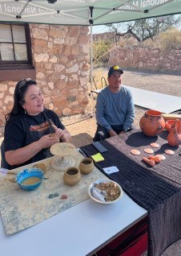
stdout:
<svg viewBox="0 0 181 256">
<path fill-rule="evenodd" d="M 56 156 L 71 155 L 74 152 L 74 150 L 74 145 L 68 142 L 58 142 L 50 147 L 50 153 Z"/>
</svg>

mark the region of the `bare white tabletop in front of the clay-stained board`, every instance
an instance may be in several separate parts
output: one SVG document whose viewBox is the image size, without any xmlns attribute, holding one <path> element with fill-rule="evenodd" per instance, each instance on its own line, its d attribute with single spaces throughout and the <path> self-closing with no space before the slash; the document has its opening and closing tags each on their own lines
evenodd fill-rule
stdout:
<svg viewBox="0 0 181 256">
<path fill-rule="evenodd" d="M 115 204 L 85 200 L 10 237 L 6 236 L 0 217 L 1 254 L 91 255 L 146 216 L 147 211 L 124 192 Z"/>
</svg>

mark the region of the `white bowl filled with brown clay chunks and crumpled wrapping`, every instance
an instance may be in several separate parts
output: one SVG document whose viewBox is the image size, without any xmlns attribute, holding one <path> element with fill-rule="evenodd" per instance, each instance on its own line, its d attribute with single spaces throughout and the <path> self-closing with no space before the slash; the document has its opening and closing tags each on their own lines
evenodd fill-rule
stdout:
<svg viewBox="0 0 181 256">
<path fill-rule="evenodd" d="M 123 196 L 121 186 L 112 180 L 95 180 L 88 188 L 89 196 L 92 200 L 100 204 L 113 204 Z"/>
</svg>

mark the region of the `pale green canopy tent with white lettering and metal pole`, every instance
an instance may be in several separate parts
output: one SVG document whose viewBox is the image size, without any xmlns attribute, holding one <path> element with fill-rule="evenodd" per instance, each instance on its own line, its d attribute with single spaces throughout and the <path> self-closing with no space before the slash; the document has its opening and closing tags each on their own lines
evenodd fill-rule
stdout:
<svg viewBox="0 0 181 256">
<path fill-rule="evenodd" d="M 181 14 L 181 0 L 0 0 L 1 23 L 46 23 L 92 26 Z"/>
</svg>

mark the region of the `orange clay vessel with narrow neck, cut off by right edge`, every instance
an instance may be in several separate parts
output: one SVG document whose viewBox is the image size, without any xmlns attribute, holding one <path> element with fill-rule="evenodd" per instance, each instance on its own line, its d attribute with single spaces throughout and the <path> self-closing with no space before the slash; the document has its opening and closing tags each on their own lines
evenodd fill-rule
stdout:
<svg viewBox="0 0 181 256">
<path fill-rule="evenodd" d="M 178 119 L 171 126 L 171 130 L 167 135 L 167 142 L 172 147 L 177 147 L 181 144 L 181 123 Z"/>
</svg>

